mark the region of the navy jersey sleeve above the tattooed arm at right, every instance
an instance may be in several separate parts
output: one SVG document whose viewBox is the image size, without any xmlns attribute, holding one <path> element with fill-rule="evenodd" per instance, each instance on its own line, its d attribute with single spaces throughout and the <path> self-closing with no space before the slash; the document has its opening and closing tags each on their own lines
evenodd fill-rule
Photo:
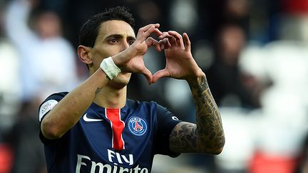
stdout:
<svg viewBox="0 0 308 173">
<path fill-rule="evenodd" d="M 170 157 L 178 157 L 180 155 L 180 153 L 172 152 L 169 147 L 170 133 L 179 122 L 182 121 L 178 120 L 178 117 L 175 117 L 167 108 L 157 105 L 158 131 L 155 154 L 165 154 Z"/>
</svg>

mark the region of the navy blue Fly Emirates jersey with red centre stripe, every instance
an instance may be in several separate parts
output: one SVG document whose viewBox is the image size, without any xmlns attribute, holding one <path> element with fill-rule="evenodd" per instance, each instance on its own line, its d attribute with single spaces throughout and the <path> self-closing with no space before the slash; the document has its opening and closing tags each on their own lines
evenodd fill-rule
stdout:
<svg viewBox="0 0 308 173">
<path fill-rule="evenodd" d="M 66 94 L 53 94 L 41 104 L 40 121 Z M 169 135 L 178 122 L 154 102 L 127 100 L 121 109 L 92 103 L 60 139 L 40 134 L 48 172 L 150 172 L 154 154 L 178 156 L 169 149 Z"/>
</svg>

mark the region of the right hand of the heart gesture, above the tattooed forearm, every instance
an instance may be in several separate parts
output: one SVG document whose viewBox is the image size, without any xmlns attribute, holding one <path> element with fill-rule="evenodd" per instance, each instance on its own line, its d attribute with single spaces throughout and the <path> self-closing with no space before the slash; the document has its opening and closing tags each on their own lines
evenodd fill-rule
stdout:
<svg viewBox="0 0 308 173">
<path fill-rule="evenodd" d="M 204 75 L 199 68 L 190 48 L 190 39 L 187 33 L 183 37 L 176 31 L 164 32 L 159 36 L 160 40 L 168 38 L 170 46 L 165 48 L 166 66 L 153 75 L 152 83 L 163 77 L 190 80 Z"/>
</svg>

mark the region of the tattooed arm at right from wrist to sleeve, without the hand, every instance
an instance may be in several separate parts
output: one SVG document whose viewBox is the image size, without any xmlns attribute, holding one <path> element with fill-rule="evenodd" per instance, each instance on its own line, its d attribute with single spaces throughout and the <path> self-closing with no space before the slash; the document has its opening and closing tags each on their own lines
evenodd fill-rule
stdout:
<svg viewBox="0 0 308 173">
<path fill-rule="evenodd" d="M 205 75 L 190 82 L 196 108 L 196 124 L 180 122 L 170 134 L 170 149 L 175 152 L 220 153 L 225 145 L 222 120 L 212 98 Z"/>
</svg>

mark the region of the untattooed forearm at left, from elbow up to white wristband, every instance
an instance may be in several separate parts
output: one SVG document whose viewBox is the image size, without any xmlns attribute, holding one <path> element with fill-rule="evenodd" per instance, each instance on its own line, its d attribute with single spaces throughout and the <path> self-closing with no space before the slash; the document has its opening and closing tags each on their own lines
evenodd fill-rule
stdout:
<svg viewBox="0 0 308 173">
<path fill-rule="evenodd" d="M 93 103 L 96 94 L 108 83 L 106 74 L 98 69 L 90 78 L 72 90 L 41 122 L 41 132 L 48 139 L 56 139 L 71 129 Z"/>
</svg>

